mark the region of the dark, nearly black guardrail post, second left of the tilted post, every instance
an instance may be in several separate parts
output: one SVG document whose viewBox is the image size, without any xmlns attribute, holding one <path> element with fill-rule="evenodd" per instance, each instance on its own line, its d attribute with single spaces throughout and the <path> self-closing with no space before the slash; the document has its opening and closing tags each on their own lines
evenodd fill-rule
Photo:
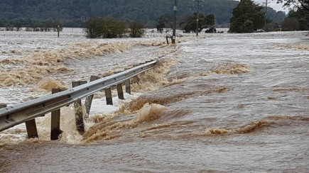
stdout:
<svg viewBox="0 0 309 173">
<path fill-rule="evenodd" d="M 52 94 L 63 91 L 63 89 L 52 89 Z M 50 140 L 58 140 L 59 135 L 63 133 L 60 130 L 60 109 L 51 112 L 50 118 Z"/>
</svg>

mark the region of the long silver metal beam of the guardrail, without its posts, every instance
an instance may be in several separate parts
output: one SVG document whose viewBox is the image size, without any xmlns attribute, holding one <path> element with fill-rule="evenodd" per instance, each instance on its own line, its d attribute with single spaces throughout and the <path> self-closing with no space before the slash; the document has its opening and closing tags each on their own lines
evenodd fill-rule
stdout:
<svg viewBox="0 0 309 173">
<path fill-rule="evenodd" d="M 153 68 L 155 65 L 156 60 L 153 60 L 131 69 L 127 69 L 124 72 L 112 74 L 111 76 L 97 79 L 93 82 L 82 84 L 72 89 L 61 91 L 49 96 L 43 96 L 32 101 L 26 101 L 22 104 L 16 104 L 15 106 L 0 108 L 0 131 L 58 110 L 63 106 L 72 104 L 75 101 L 90 96 L 102 89 L 108 89 L 116 84 L 126 82 L 127 79 L 135 77 L 137 74 L 145 72 L 146 70 Z"/>
</svg>

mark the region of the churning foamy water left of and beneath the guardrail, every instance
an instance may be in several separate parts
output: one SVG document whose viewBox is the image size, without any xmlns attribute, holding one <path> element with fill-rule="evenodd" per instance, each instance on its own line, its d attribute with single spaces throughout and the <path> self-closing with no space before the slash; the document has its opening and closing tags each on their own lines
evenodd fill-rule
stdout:
<svg viewBox="0 0 309 173">
<path fill-rule="evenodd" d="M 53 88 L 68 89 L 74 80 L 89 80 L 90 75 L 104 77 L 175 51 L 175 46 L 166 45 L 164 35 L 158 33 L 147 33 L 146 38 L 92 40 L 85 38 L 78 28 L 65 28 L 60 38 L 55 34 L 26 31 L 0 33 L 0 103 L 13 105 L 36 99 L 50 94 Z M 183 38 L 178 42 L 188 39 Z M 170 67 L 171 64 L 167 65 Z M 158 70 L 163 72 L 160 77 L 164 81 L 163 75 L 168 69 L 163 66 Z M 140 84 L 133 84 L 132 95 L 125 94 L 124 101 L 117 99 L 116 91 L 113 91 L 113 106 L 107 106 L 102 92 L 95 94 L 90 118 L 85 121 L 86 130 L 94 124 L 96 118 L 113 114 L 124 103 L 136 99 L 139 92 L 161 86 L 147 84 L 147 81 L 147 77 L 143 77 Z M 61 108 L 61 112 L 61 141 L 82 143 L 82 135 L 75 127 L 72 105 Z M 36 121 L 38 141 L 49 140 L 50 114 L 36 118 Z M 1 145 L 21 143 L 23 140 L 26 140 L 26 127 L 23 124 L 0 133 Z"/>
</svg>

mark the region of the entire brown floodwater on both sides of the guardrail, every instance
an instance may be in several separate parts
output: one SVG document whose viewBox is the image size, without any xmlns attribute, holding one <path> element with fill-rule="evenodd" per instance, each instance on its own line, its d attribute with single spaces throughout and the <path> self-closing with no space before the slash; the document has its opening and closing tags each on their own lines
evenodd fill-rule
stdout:
<svg viewBox="0 0 309 173">
<path fill-rule="evenodd" d="M 156 58 L 158 65 L 113 108 L 97 94 L 84 135 L 76 132 L 71 107 L 62 110 L 58 141 L 48 140 L 48 116 L 37 118 L 39 139 L 26 140 L 23 125 L 1 132 L 1 172 L 308 172 L 308 33 L 188 36 L 176 46 L 164 39 L 77 37 L 73 48 L 44 50 L 40 63 L 2 53 L 2 74 L 27 76 L 1 81 L 1 102 L 8 104 L 48 94 L 38 82 L 69 87 L 70 79 L 143 60 Z M 103 51 L 109 45 L 118 47 Z M 51 72 L 23 70 L 36 65 Z"/>
</svg>

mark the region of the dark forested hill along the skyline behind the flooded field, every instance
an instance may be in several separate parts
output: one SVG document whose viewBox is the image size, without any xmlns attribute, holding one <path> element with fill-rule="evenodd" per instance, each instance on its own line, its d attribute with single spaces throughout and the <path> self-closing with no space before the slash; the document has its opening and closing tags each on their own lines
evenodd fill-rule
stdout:
<svg viewBox="0 0 309 173">
<path fill-rule="evenodd" d="M 232 10 L 239 1 L 205 0 L 200 4 L 204 14 L 213 13 L 219 24 L 229 23 Z M 40 20 L 85 20 L 94 16 L 109 16 L 125 21 L 141 21 L 155 26 L 158 17 L 172 15 L 173 0 L 1 0 L 0 18 L 37 18 Z M 178 0 L 178 21 L 197 10 L 196 2 Z"/>
</svg>

